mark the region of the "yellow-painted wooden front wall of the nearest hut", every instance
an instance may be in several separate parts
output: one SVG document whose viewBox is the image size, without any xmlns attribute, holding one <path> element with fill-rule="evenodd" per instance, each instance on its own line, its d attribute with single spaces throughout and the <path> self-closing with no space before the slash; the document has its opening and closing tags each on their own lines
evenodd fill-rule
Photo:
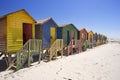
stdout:
<svg viewBox="0 0 120 80">
<path fill-rule="evenodd" d="M 4 16 L 6 21 L 6 52 L 16 52 L 23 46 L 23 24 L 32 24 L 32 38 L 34 38 L 35 20 L 25 11 L 19 10 Z M 0 41 L 1 42 L 1 41 Z"/>
</svg>

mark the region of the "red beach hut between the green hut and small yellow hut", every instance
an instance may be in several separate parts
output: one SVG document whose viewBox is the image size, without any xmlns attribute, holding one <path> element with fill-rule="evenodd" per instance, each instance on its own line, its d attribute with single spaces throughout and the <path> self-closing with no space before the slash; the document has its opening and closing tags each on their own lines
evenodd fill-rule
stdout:
<svg viewBox="0 0 120 80">
<path fill-rule="evenodd" d="M 80 29 L 79 31 L 79 39 L 81 40 L 82 43 L 82 50 L 85 51 L 87 49 L 87 37 L 88 37 L 88 32 L 85 28 Z"/>
</svg>

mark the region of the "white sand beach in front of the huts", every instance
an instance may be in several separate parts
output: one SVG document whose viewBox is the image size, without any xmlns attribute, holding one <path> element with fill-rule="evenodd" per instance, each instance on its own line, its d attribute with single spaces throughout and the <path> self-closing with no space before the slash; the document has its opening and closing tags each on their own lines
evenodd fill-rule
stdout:
<svg viewBox="0 0 120 80">
<path fill-rule="evenodd" d="M 120 80 L 120 44 L 108 43 L 17 72 L 0 72 L 0 80 Z"/>
</svg>

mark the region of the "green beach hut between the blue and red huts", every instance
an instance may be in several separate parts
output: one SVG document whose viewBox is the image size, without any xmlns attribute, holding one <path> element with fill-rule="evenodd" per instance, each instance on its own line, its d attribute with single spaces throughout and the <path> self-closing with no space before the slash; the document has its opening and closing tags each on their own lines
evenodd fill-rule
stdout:
<svg viewBox="0 0 120 80">
<path fill-rule="evenodd" d="M 78 29 L 73 24 L 61 25 L 57 27 L 57 38 L 63 39 L 65 47 L 73 38 L 78 39 Z"/>
</svg>

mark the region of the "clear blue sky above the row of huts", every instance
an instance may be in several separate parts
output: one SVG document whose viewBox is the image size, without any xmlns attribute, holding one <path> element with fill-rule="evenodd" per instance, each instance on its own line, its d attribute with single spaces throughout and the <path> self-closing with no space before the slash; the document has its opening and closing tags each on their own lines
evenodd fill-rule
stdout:
<svg viewBox="0 0 120 80">
<path fill-rule="evenodd" d="M 52 17 L 120 39 L 120 0 L 0 0 L 0 16 L 25 9 L 35 20 Z"/>
</svg>

